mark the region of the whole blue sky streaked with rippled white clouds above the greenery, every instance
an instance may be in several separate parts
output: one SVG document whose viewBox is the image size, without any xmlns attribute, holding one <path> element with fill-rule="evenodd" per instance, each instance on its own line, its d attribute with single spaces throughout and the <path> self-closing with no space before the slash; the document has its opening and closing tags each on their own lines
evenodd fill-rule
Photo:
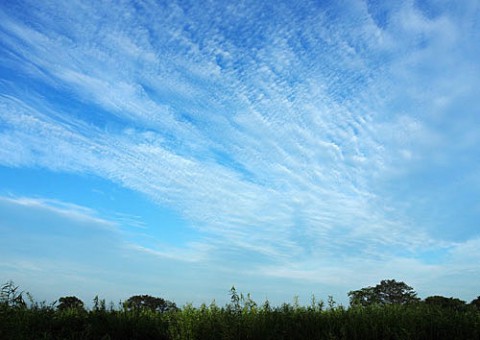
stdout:
<svg viewBox="0 0 480 340">
<path fill-rule="evenodd" d="M 0 281 L 480 295 L 480 1 L 2 1 Z"/>
</svg>

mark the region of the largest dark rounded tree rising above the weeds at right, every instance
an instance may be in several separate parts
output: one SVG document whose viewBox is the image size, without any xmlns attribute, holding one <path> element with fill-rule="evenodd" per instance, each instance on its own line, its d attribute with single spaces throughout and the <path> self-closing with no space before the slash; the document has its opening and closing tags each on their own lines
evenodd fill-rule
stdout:
<svg viewBox="0 0 480 340">
<path fill-rule="evenodd" d="M 382 280 L 375 287 L 350 291 L 348 296 L 351 306 L 406 304 L 420 300 L 412 287 L 395 280 Z"/>
</svg>

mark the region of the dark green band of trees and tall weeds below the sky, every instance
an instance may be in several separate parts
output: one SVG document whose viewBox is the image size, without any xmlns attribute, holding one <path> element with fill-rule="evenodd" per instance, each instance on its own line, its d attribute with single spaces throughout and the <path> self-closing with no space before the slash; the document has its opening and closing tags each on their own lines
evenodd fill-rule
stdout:
<svg viewBox="0 0 480 340">
<path fill-rule="evenodd" d="M 0 339 L 480 339 L 480 297 L 466 303 L 442 296 L 419 299 L 395 280 L 349 293 L 350 306 L 330 297 L 301 306 L 271 306 L 230 290 L 230 303 L 179 308 L 136 295 L 92 308 L 67 296 L 36 302 L 12 282 L 0 295 Z"/>
</svg>

